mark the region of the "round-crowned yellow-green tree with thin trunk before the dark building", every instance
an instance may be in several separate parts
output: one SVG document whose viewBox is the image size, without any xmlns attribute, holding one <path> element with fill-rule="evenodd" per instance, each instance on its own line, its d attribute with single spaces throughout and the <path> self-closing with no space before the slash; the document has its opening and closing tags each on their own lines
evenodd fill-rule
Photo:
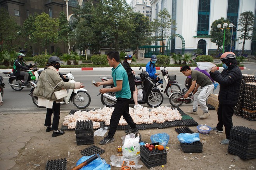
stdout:
<svg viewBox="0 0 256 170">
<path fill-rule="evenodd" d="M 44 12 L 35 19 L 35 32 L 33 36 L 45 43 L 45 55 L 47 54 L 48 42 L 54 42 L 57 39 L 58 26 L 59 19 L 50 18 Z"/>
</svg>

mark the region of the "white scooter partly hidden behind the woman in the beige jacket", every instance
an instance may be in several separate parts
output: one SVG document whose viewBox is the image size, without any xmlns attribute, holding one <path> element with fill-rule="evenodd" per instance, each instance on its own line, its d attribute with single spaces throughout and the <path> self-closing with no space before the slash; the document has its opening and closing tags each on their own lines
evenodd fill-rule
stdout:
<svg viewBox="0 0 256 170">
<path fill-rule="evenodd" d="M 76 82 L 74 81 L 74 76 L 71 74 L 71 72 L 66 74 L 66 79 L 68 79 L 69 82 Z M 43 108 L 43 106 L 38 106 L 38 97 L 33 96 L 33 91 L 36 84 L 33 87 L 34 88 L 31 89 L 29 95 L 32 97 L 32 101 L 37 107 Z M 68 89 L 67 94 L 68 95 L 64 98 L 63 102 L 60 102 L 61 104 L 69 104 L 69 102 L 73 102 L 74 106 L 82 109 L 88 107 L 91 103 L 91 96 L 84 88 Z"/>
</svg>

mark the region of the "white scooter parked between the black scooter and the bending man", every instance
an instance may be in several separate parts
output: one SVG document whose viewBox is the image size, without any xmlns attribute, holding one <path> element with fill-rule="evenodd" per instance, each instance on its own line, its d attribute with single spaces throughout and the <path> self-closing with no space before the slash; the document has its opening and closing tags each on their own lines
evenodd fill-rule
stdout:
<svg viewBox="0 0 256 170">
<path fill-rule="evenodd" d="M 181 91 L 180 86 L 177 84 L 176 75 L 168 75 L 168 71 L 165 70 L 165 67 L 161 70 L 163 79 L 158 81 L 156 86 L 161 90 L 161 92 L 169 97 L 173 92 Z"/>
</svg>

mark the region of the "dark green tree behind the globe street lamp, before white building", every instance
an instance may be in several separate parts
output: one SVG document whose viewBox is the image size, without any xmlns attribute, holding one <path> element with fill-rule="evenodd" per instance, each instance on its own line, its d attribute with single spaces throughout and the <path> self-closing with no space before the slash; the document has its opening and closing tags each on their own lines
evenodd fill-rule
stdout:
<svg viewBox="0 0 256 170">
<path fill-rule="evenodd" d="M 223 38 L 224 38 L 224 29 L 218 29 L 217 25 L 221 24 L 221 26 L 223 26 L 224 23 L 229 24 L 230 21 L 228 19 L 221 17 L 220 19 L 213 21 L 213 23 L 211 24 L 211 31 L 210 31 L 211 42 L 215 43 L 218 46 L 217 51 L 223 47 Z M 230 38 L 231 38 L 231 33 L 227 29 L 225 33 L 225 46 L 230 44 Z"/>
</svg>

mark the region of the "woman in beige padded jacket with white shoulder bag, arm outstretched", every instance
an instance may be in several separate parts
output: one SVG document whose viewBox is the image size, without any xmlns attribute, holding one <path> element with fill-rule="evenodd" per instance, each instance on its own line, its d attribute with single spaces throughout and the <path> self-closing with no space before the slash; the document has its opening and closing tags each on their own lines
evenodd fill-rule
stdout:
<svg viewBox="0 0 256 170">
<path fill-rule="evenodd" d="M 46 132 L 53 131 L 52 137 L 63 135 L 65 133 L 64 131 L 59 130 L 59 102 L 63 101 L 63 98 L 57 100 L 54 91 L 59 91 L 61 89 L 80 89 L 84 87 L 81 85 L 83 83 L 80 82 L 64 82 L 58 72 L 58 69 L 61 67 L 60 63 L 63 62 L 61 62 L 57 56 L 52 56 L 48 59 L 47 67 L 40 74 L 38 83 L 33 92 L 33 95 L 38 97 L 38 105 L 47 108 L 45 117 L 45 126 L 47 126 Z M 52 113 L 54 114 L 53 120 Z"/>
</svg>

